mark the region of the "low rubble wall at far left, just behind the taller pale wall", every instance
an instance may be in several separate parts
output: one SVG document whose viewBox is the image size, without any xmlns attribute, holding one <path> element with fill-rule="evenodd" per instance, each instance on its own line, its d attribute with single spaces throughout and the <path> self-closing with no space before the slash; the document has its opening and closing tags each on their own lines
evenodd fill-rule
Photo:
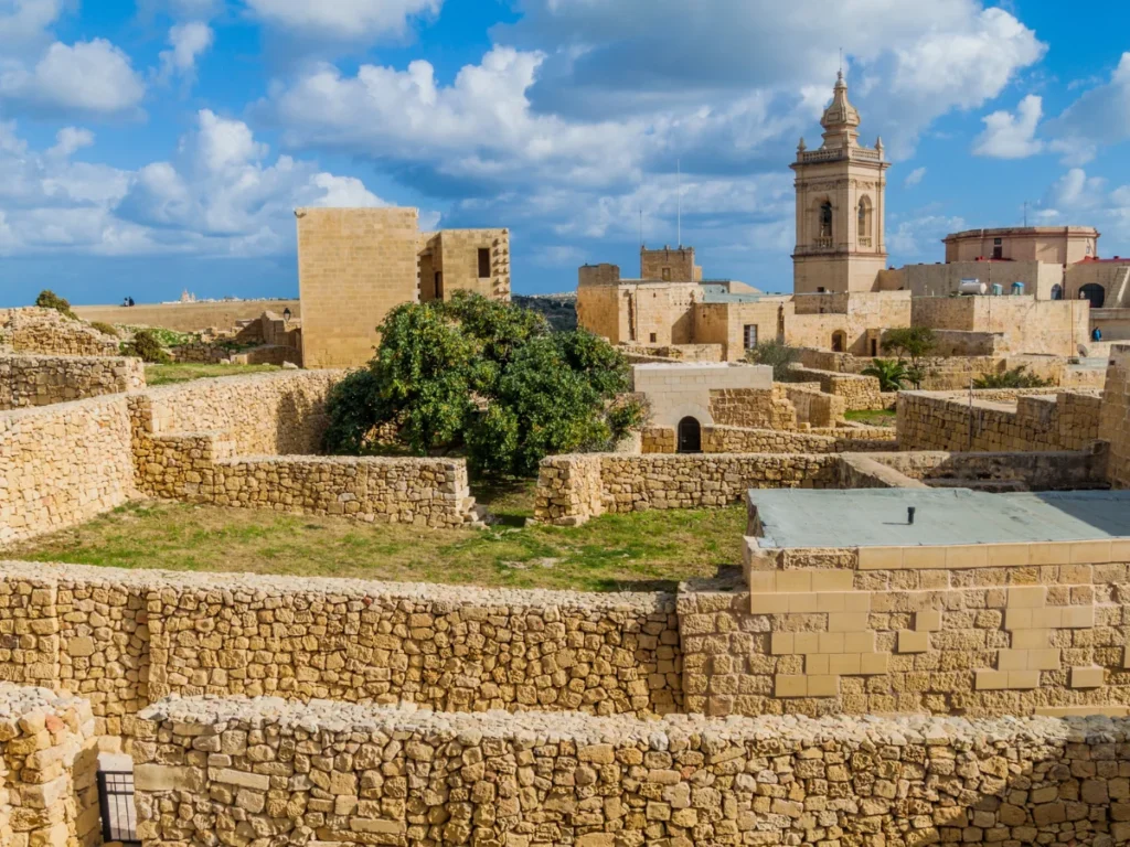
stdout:
<svg viewBox="0 0 1130 847">
<path fill-rule="evenodd" d="M 116 394 L 145 385 L 140 359 L 0 355 L 0 411 Z"/>
</svg>

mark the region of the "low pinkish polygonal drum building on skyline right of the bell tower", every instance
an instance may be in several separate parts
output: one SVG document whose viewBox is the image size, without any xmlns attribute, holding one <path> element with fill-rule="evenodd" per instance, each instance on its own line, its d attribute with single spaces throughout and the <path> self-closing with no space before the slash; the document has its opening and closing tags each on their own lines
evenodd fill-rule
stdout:
<svg viewBox="0 0 1130 847">
<path fill-rule="evenodd" d="M 966 229 L 942 242 L 947 262 L 1006 259 L 1062 267 L 1098 255 L 1098 232 L 1093 227 Z"/>
</svg>

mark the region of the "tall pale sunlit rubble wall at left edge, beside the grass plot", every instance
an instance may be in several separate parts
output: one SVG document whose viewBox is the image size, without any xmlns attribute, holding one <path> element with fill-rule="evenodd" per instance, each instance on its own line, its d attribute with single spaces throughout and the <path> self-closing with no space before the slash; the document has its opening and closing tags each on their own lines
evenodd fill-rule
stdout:
<svg viewBox="0 0 1130 847">
<path fill-rule="evenodd" d="M 84 523 L 133 492 L 125 394 L 0 412 L 0 544 Z"/>
</svg>

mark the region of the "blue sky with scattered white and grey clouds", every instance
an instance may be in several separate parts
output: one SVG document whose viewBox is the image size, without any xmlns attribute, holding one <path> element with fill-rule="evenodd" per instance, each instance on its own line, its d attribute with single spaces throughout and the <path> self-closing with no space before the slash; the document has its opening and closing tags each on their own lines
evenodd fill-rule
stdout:
<svg viewBox="0 0 1130 847">
<path fill-rule="evenodd" d="M 1012 0 L 0 0 L 0 306 L 293 296 L 296 206 L 507 226 L 516 292 L 789 290 L 797 140 L 845 53 L 893 264 L 960 228 L 1130 254 L 1130 11 Z"/>
</svg>

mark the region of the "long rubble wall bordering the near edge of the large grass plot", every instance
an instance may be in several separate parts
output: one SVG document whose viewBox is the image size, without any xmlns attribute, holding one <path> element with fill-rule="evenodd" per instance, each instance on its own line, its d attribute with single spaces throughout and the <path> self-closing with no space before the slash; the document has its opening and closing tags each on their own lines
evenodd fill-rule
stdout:
<svg viewBox="0 0 1130 847">
<path fill-rule="evenodd" d="M 0 564 L 0 678 L 92 702 L 169 695 L 436 709 L 681 709 L 675 597 Z"/>
</svg>

